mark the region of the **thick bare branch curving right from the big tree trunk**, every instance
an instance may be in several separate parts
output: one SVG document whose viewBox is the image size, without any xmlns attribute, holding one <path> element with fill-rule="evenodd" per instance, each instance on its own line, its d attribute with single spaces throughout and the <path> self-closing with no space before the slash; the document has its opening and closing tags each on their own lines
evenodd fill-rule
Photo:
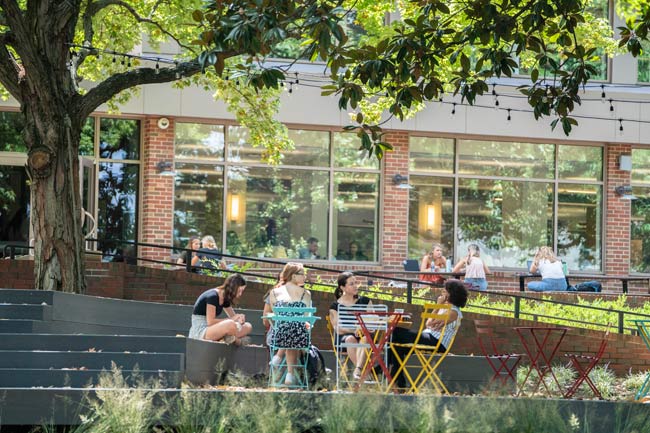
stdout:
<svg viewBox="0 0 650 433">
<path fill-rule="evenodd" d="M 105 103 L 123 90 L 143 84 L 169 83 L 180 77 L 190 77 L 201 72 L 198 62 L 179 63 L 174 68 L 138 68 L 132 71 L 115 74 L 93 87 L 81 97 L 78 105 L 80 118 L 89 116 L 97 107 Z"/>
</svg>

